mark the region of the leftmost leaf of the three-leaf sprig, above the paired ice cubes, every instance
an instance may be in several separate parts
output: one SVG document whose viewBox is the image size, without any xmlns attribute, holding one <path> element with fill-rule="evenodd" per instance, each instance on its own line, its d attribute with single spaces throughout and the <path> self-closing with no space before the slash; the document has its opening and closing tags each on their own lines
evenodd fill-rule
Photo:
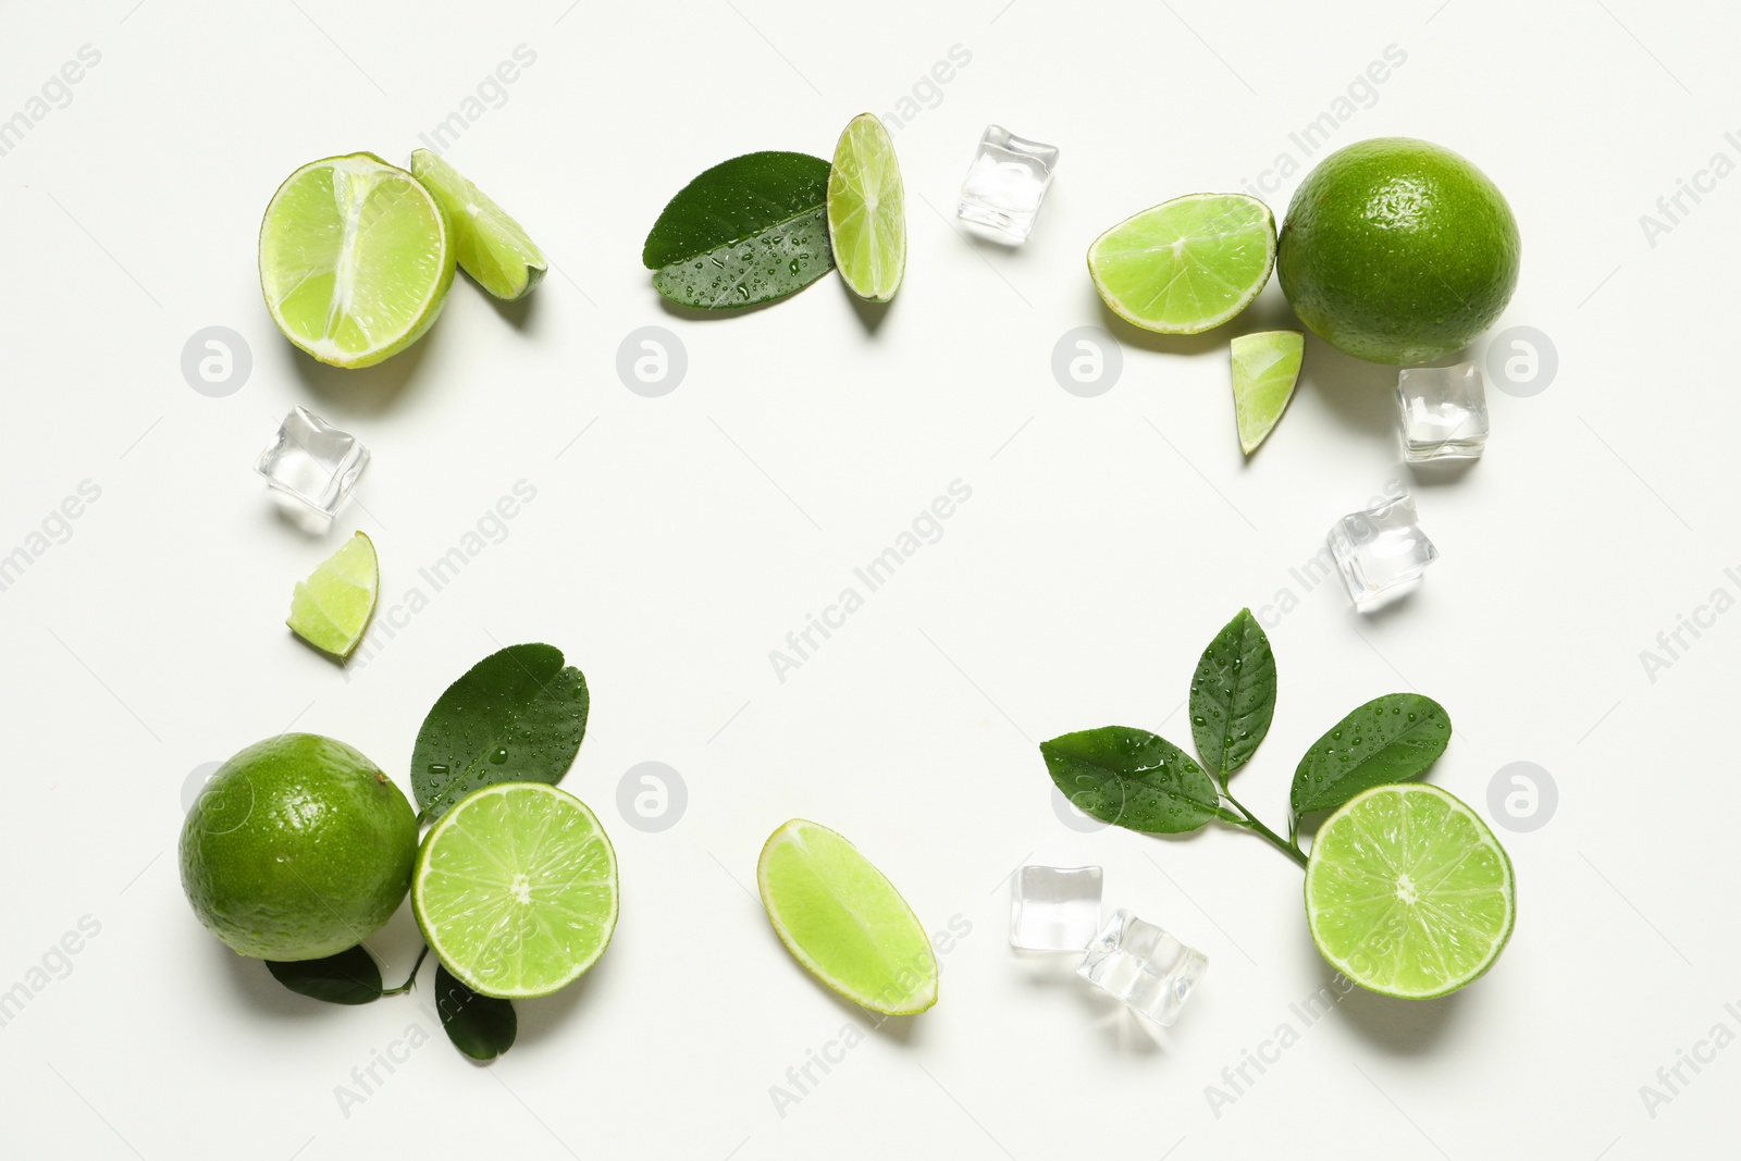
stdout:
<svg viewBox="0 0 1741 1161">
<path fill-rule="evenodd" d="M 1039 743 L 1052 782 L 1076 809 L 1146 834 L 1184 834 L 1220 816 L 1213 780 L 1147 729 L 1104 726 Z"/>
</svg>

